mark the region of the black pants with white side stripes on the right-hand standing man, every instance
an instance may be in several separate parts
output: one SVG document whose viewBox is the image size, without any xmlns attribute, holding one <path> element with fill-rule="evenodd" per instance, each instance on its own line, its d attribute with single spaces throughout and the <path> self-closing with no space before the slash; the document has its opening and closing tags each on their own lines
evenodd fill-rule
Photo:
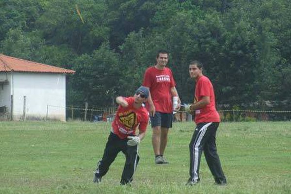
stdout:
<svg viewBox="0 0 291 194">
<path fill-rule="evenodd" d="M 198 123 L 192 140 L 189 144 L 190 149 L 190 180 L 198 182 L 199 167 L 202 151 L 204 151 L 206 162 L 209 169 L 218 184 L 226 183 L 226 177 L 222 171 L 219 156 L 217 154 L 215 136 L 216 130 L 219 126 L 218 122 L 215 123 Z"/>
</svg>

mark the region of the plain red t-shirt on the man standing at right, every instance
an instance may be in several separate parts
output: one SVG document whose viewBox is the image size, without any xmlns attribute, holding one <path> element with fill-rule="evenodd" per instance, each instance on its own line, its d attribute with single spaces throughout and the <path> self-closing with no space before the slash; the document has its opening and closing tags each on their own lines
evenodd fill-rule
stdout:
<svg viewBox="0 0 291 194">
<path fill-rule="evenodd" d="M 202 97 L 210 97 L 210 103 L 203 108 L 195 110 L 195 123 L 220 122 L 219 114 L 215 108 L 215 95 L 211 81 L 206 76 L 198 78 L 195 87 L 195 101 Z"/>
</svg>

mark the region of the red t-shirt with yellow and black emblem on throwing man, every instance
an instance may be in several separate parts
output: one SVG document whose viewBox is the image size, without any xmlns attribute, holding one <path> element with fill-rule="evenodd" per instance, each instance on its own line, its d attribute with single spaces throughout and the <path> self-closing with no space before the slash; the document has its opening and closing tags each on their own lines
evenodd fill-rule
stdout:
<svg viewBox="0 0 291 194">
<path fill-rule="evenodd" d="M 128 107 L 124 108 L 119 105 L 112 122 L 113 133 L 120 139 L 136 135 L 137 126 L 140 132 L 145 132 L 149 117 L 144 106 L 139 109 L 133 107 L 134 97 L 125 97 L 125 100 L 129 103 Z"/>
</svg>

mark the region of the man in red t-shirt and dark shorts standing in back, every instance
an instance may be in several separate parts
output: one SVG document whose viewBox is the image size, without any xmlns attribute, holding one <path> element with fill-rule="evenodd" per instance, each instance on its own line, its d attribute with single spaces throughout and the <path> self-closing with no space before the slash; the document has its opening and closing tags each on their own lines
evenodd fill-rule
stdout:
<svg viewBox="0 0 291 194">
<path fill-rule="evenodd" d="M 151 127 L 153 128 L 152 145 L 155 153 L 155 163 L 165 164 L 168 162 L 164 159 L 163 153 L 168 141 L 168 131 L 169 128 L 172 128 L 173 111 L 179 109 L 180 99 L 178 98 L 172 71 L 166 67 L 168 53 L 160 50 L 156 61 L 154 66 L 146 69 L 143 85 L 150 91 L 148 109 Z M 178 98 L 177 107 L 173 107 L 172 97 Z"/>
</svg>

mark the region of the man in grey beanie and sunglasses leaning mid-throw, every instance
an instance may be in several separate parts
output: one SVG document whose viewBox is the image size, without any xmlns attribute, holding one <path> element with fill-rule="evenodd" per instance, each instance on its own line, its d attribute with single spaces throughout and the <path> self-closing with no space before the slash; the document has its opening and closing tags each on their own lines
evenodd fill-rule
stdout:
<svg viewBox="0 0 291 194">
<path fill-rule="evenodd" d="M 139 162 L 137 146 L 146 134 L 149 115 L 143 103 L 146 102 L 148 96 L 149 90 L 141 86 L 136 90 L 133 97 L 116 97 L 119 106 L 103 157 L 97 164 L 93 182 L 99 183 L 101 181 L 120 151 L 126 157 L 120 184 L 130 184 L 132 181 Z M 136 135 L 137 128 L 139 129 L 138 135 Z"/>
</svg>

